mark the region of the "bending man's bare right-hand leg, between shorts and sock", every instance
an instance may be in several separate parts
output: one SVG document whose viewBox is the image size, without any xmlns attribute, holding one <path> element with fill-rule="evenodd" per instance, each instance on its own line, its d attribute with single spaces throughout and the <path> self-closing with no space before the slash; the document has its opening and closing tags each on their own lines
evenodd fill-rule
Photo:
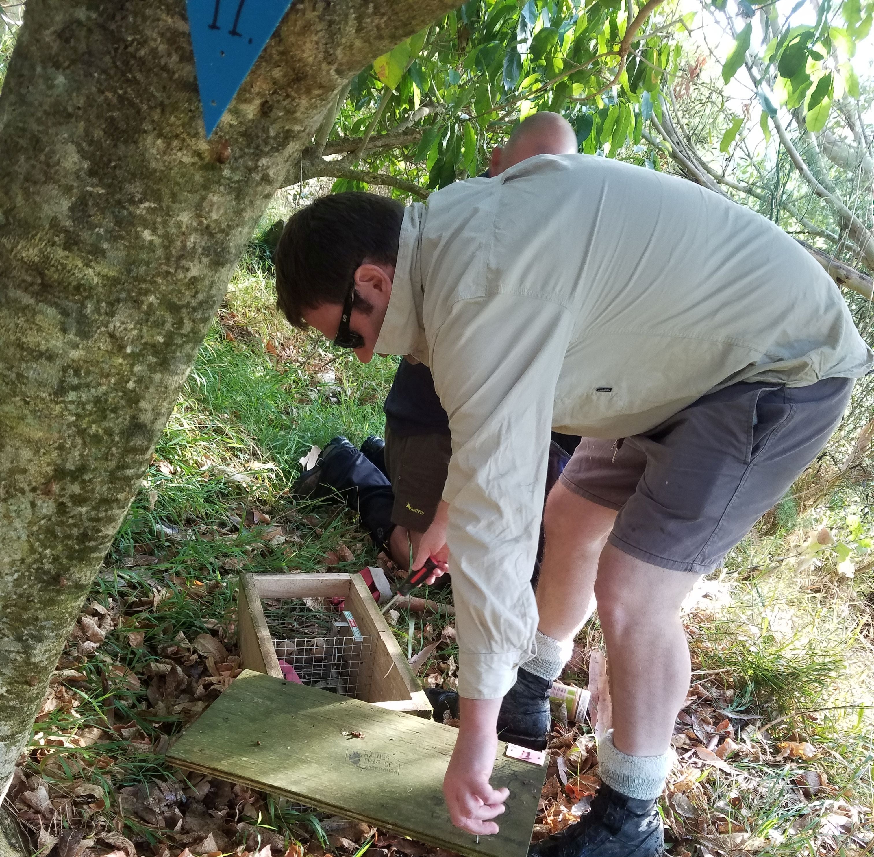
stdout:
<svg viewBox="0 0 874 857">
<path fill-rule="evenodd" d="M 614 745 L 629 756 L 669 749 L 691 675 L 680 605 L 697 579 L 613 545 L 601 554 L 595 597 L 610 664 Z"/>
</svg>

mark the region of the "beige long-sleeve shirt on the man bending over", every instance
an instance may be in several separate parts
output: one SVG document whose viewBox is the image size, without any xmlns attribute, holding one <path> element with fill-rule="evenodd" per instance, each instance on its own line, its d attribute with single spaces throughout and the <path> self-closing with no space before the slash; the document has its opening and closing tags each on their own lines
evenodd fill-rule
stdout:
<svg viewBox="0 0 874 857">
<path fill-rule="evenodd" d="M 778 226 L 585 155 L 410 206 L 376 351 L 427 363 L 449 415 L 459 692 L 474 699 L 503 696 L 534 653 L 550 429 L 627 437 L 736 381 L 803 387 L 874 363 L 836 285 Z"/>
</svg>

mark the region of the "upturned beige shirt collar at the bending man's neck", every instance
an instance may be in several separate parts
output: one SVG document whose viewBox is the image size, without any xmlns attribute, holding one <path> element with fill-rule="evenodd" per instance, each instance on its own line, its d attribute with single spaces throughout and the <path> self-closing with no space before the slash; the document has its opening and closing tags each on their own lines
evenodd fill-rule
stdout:
<svg viewBox="0 0 874 857">
<path fill-rule="evenodd" d="M 424 289 L 419 264 L 420 227 L 424 208 L 421 203 L 407 206 L 400 227 L 398 262 L 394 267 L 392 295 L 385 310 L 373 351 L 377 354 L 412 354 L 427 363 L 427 343 L 422 326 Z"/>
</svg>

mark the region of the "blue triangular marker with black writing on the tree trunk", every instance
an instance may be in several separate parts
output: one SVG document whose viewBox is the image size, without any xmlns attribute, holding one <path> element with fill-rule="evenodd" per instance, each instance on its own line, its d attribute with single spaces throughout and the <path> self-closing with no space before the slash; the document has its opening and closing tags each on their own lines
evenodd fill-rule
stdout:
<svg viewBox="0 0 874 857">
<path fill-rule="evenodd" d="M 208 137 L 291 0 L 187 0 L 187 5 Z"/>
</svg>

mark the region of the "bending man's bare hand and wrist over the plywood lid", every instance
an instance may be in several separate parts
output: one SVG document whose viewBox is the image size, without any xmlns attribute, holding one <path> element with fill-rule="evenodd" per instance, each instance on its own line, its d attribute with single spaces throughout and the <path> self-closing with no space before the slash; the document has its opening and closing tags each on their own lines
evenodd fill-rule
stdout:
<svg viewBox="0 0 874 857">
<path fill-rule="evenodd" d="M 508 789 L 489 784 L 495 767 L 496 722 L 502 700 L 466 700 L 461 697 L 461 727 L 452 759 L 443 779 L 443 797 L 456 827 L 477 836 L 497 833 L 490 819 L 501 815 Z"/>
</svg>

